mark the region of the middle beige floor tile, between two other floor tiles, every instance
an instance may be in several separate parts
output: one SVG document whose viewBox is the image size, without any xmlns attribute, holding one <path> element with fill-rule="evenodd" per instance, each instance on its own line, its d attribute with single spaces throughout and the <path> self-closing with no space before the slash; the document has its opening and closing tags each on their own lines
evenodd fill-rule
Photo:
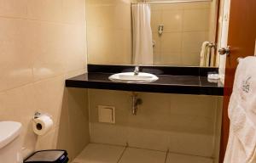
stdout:
<svg viewBox="0 0 256 163">
<path fill-rule="evenodd" d="M 165 159 L 165 152 L 127 148 L 119 163 L 165 163 Z"/>
</svg>

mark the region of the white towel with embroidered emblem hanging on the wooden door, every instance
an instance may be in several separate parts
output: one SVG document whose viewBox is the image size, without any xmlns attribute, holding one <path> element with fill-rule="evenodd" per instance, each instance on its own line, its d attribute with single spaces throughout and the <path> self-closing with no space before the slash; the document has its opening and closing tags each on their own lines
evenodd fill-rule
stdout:
<svg viewBox="0 0 256 163">
<path fill-rule="evenodd" d="M 230 98 L 224 163 L 256 163 L 256 57 L 240 59 Z"/>
</svg>

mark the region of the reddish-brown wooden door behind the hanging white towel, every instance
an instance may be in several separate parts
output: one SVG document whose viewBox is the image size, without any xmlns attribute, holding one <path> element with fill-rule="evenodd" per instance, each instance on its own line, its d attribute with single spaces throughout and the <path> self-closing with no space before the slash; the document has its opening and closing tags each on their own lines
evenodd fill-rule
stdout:
<svg viewBox="0 0 256 163">
<path fill-rule="evenodd" d="M 229 138 L 230 121 L 228 118 L 228 105 L 238 64 L 237 58 L 254 54 L 255 39 L 256 0 L 231 0 L 228 32 L 230 55 L 226 58 L 220 163 L 224 160 L 224 153 Z"/>
</svg>

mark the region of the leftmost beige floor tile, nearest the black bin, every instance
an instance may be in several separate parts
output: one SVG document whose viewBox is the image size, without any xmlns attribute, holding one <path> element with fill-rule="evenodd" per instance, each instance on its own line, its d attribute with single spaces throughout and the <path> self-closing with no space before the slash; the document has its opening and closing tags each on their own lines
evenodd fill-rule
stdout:
<svg viewBox="0 0 256 163">
<path fill-rule="evenodd" d="M 73 163 L 117 163 L 125 147 L 90 143 Z"/>
</svg>

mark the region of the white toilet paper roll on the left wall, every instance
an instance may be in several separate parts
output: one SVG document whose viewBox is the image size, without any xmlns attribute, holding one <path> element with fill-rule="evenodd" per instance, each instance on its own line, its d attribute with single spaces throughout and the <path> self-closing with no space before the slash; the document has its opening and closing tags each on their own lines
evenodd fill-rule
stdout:
<svg viewBox="0 0 256 163">
<path fill-rule="evenodd" d="M 53 126 L 53 121 L 48 115 L 40 115 L 33 120 L 33 131 L 37 135 L 44 135 Z"/>
</svg>

